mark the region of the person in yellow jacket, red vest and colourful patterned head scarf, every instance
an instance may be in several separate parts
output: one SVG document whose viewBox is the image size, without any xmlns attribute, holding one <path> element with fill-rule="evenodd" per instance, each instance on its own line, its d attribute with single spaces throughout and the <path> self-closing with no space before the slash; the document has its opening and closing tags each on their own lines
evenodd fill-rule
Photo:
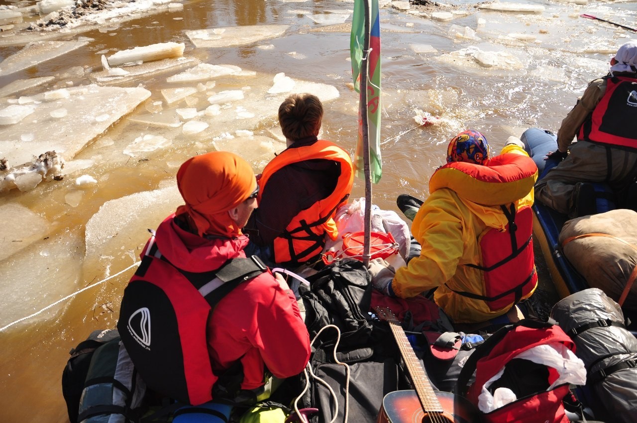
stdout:
<svg viewBox="0 0 637 423">
<path fill-rule="evenodd" d="M 536 288 L 531 205 L 538 169 L 519 140 L 489 157 L 486 138 L 471 130 L 451 140 L 447 162 L 431 176 L 413 220 L 420 256 L 395 274 L 379 259 L 369 270 L 385 294 L 411 298 L 436 288 L 434 301 L 455 323 L 486 322 Z"/>
</svg>

